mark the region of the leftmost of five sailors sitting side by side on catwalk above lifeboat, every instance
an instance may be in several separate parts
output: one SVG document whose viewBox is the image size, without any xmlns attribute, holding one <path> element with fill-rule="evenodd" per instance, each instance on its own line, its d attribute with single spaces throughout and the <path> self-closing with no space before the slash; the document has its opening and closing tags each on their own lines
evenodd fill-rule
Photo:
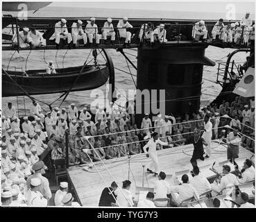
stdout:
<svg viewBox="0 0 256 222">
<path fill-rule="evenodd" d="M 67 31 L 67 20 L 61 19 L 60 22 L 55 24 L 55 32 L 51 36 L 51 38 L 55 38 L 56 44 L 60 44 L 60 39 L 67 39 L 67 43 L 69 44 L 72 41 L 71 33 Z"/>
</svg>

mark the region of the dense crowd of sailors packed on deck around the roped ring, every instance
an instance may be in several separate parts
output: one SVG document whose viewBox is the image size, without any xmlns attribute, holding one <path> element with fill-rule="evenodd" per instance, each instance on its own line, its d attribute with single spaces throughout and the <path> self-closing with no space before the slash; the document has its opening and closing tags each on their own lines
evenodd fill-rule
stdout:
<svg viewBox="0 0 256 222">
<path fill-rule="evenodd" d="M 47 112 L 45 117 L 39 103 L 33 101 L 30 117 L 24 117 L 22 122 L 17 117 L 15 106 L 8 103 L 1 117 L 2 201 L 5 202 L 5 195 L 10 196 L 10 191 L 13 191 L 14 204 L 21 201 L 19 203 L 33 205 L 30 198 L 34 196 L 37 196 L 38 201 L 42 200 L 40 203 L 47 203 L 44 198 L 46 200 L 51 198 L 50 189 L 46 189 L 39 180 L 28 180 L 28 178 L 42 178 L 44 170 L 53 171 L 56 160 L 67 158 L 66 148 L 69 153 L 69 164 L 92 164 L 104 159 L 144 153 L 145 144 L 151 138 L 153 131 L 160 135 L 162 142 L 168 144 L 168 146 L 157 144 L 157 149 L 189 143 L 188 138 L 197 128 L 209 134 L 205 136 L 208 144 L 206 158 L 211 155 L 211 139 L 222 138 L 232 146 L 233 150 L 238 149 L 236 153 L 231 153 L 231 157 L 228 153 L 228 159 L 231 160 L 232 157 L 238 156 L 239 144 L 254 152 L 254 99 L 248 100 L 237 96 L 232 103 L 223 101 L 219 108 L 217 105 L 208 105 L 198 112 L 185 114 L 185 117 L 165 115 L 162 118 L 162 115 L 158 114 L 153 123 L 149 115 L 145 114 L 139 127 L 135 123 L 135 115 L 130 112 L 134 110 L 134 105 L 135 103 L 130 101 L 126 109 L 119 94 L 117 101 L 110 103 L 110 110 L 96 107 L 95 115 L 92 115 L 87 107 L 78 112 L 76 105 L 71 103 L 68 108 L 54 108 L 51 112 Z M 238 136 L 237 132 L 241 132 L 243 136 Z M 158 171 L 156 175 L 160 176 L 160 172 Z M 44 183 L 44 180 L 41 182 Z M 49 182 L 45 182 L 45 186 L 49 187 Z M 17 200 L 17 196 L 22 196 L 22 200 L 20 198 Z"/>
</svg>

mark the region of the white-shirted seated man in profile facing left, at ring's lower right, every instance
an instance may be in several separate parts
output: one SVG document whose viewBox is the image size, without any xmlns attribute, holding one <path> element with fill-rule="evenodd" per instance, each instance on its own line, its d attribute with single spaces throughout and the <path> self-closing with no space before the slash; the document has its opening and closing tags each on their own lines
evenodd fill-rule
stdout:
<svg viewBox="0 0 256 222">
<path fill-rule="evenodd" d="M 215 180 L 212 184 L 212 196 L 216 196 L 221 191 L 223 191 L 225 194 L 228 192 L 228 189 L 226 189 L 229 186 L 238 186 L 238 180 L 237 177 L 234 176 L 233 173 L 230 173 L 230 166 L 223 165 L 223 174 L 224 176 L 221 178 L 221 182 Z"/>
</svg>

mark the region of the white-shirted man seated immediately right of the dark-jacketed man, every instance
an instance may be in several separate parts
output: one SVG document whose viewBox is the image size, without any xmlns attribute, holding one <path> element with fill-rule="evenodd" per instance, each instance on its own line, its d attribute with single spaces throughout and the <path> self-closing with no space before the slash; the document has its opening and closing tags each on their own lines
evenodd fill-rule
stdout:
<svg viewBox="0 0 256 222">
<path fill-rule="evenodd" d="M 133 207 L 133 196 L 130 192 L 130 180 L 123 181 L 123 187 L 118 187 L 114 193 L 117 195 L 117 204 L 119 207 Z"/>
</svg>

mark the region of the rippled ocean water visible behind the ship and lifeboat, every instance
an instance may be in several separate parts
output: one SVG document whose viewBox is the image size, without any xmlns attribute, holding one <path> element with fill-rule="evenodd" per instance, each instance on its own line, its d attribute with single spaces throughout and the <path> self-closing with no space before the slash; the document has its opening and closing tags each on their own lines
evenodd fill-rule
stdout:
<svg viewBox="0 0 256 222">
<path fill-rule="evenodd" d="M 76 12 L 76 15 L 74 15 L 74 11 Z M 55 12 L 55 13 L 54 13 Z M 73 12 L 73 13 L 72 13 Z M 89 14 L 88 14 L 89 12 Z M 128 17 L 167 17 L 167 18 L 173 18 L 172 14 L 168 14 L 167 12 L 155 12 L 152 14 L 151 12 L 146 11 L 139 11 L 132 10 L 127 11 L 130 12 Z M 133 12 L 133 13 L 132 13 Z M 93 9 L 93 10 L 82 10 L 82 9 L 65 9 L 61 8 L 61 10 L 57 10 L 54 7 L 51 7 L 49 9 L 40 9 L 39 11 L 35 12 L 35 14 L 32 14 L 30 12 L 29 16 L 33 17 L 62 17 L 63 15 L 66 15 L 66 17 L 79 17 L 79 16 L 94 16 L 94 17 L 105 17 L 107 15 L 111 15 L 110 13 L 113 13 L 114 17 L 121 17 L 121 14 L 123 15 L 123 12 L 120 10 L 99 10 L 99 9 Z M 187 13 L 187 12 L 186 12 Z M 193 12 L 194 13 L 194 12 Z M 187 17 L 193 17 L 192 12 L 189 14 L 186 14 Z M 12 13 L 12 15 L 15 15 L 15 12 Z M 127 14 L 126 14 L 127 15 Z M 137 15 L 137 16 L 136 16 Z M 180 12 L 176 12 L 175 18 L 182 18 L 182 14 Z M 184 15 L 184 14 L 183 14 Z M 206 16 L 206 14 L 203 14 Z M 200 15 L 201 16 L 201 15 Z M 214 15 L 207 15 L 208 17 L 206 19 L 211 19 L 213 17 L 219 17 L 217 13 Z M 212 16 L 212 17 L 210 17 Z M 184 18 L 184 17 L 183 17 Z M 194 19 L 197 19 L 198 15 L 194 13 Z M 205 56 L 216 62 L 216 65 L 214 67 L 204 67 L 203 71 L 203 85 L 202 85 L 202 96 L 201 96 L 201 105 L 206 105 L 207 103 L 210 103 L 214 98 L 221 92 L 221 86 L 217 85 L 216 83 L 213 83 L 212 81 L 216 81 L 216 73 L 218 68 L 217 62 L 225 62 L 226 56 L 228 56 L 228 53 L 232 52 L 234 49 L 220 49 L 214 46 L 209 46 L 205 50 Z M 53 60 L 54 65 L 56 67 L 75 67 L 78 65 L 83 65 L 85 62 L 90 50 L 84 49 L 78 49 L 78 50 L 38 50 L 38 51 L 21 51 L 19 53 L 14 53 L 14 51 L 3 51 L 2 52 L 2 66 L 4 69 L 8 70 L 15 70 L 15 67 L 17 70 L 20 70 L 22 68 L 23 70 L 28 69 L 45 69 L 46 68 L 46 62 L 49 62 L 49 60 Z M 124 71 L 129 71 L 126 60 L 123 58 L 121 53 L 115 51 L 114 49 L 109 49 L 110 56 L 112 57 L 112 60 L 114 62 L 114 67 L 117 67 L 118 69 L 122 69 Z M 137 49 L 126 49 L 125 50 L 127 56 L 130 58 L 130 60 L 133 61 L 133 63 L 137 64 Z M 89 56 L 88 60 L 92 59 L 92 55 Z M 102 56 L 99 56 L 99 62 L 104 63 L 105 60 Z M 237 53 L 236 56 L 233 57 L 233 59 L 236 62 L 244 62 L 246 60 L 246 53 Z M 92 61 L 93 62 L 93 61 Z M 91 63 L 92 63 L 91 62 Z M 133 74 L 136 75 L 136 70 L 133 69 L 133 67 L 130 65 L 130 70 Z M 136 76 L 134 76 L 135 82 L 136 82 Z M 118 89 L 123 89 L 126 92 L 128 92 L 128 89 L 135 89 L 135 85 L 133 83 L 133 80 L 130 76 L 130 74 L 123 73 L 122 71 L 115 70 L 115 80 L 116 80 L 116 87 Z M 107 82 L 108 83 L 108 82 Z M 103 90 L 105 92 L 105 85 L 102 87 L 99 87 L 99 89 Z M 78 108 L 83 108 L 85 104 L 91 103 L 94 98 L 90 98 L 91 91 L 82 91 L 82 92 L 71 92 L 69 96 L 67 96 L 67 99 L 64 103 L 62 103 L 62 107 L 67 107 L 70 103 L 76 103 Z M 45 103 L 51 103 L 58 99 L 58 96 L 60 94 L 44 94 L 44 95 L 38 95 L 33 96 L 35 99 L 38 99 Z M 2 107 L 3 109 L 6 107 L 6 104 L 8 102 L 12 102 L 13 105 L 19 110 L 20 115 L 28 114 L 28 110 L 31 107 L 31 100 L 28 98 L 25 98 L 25 105 L 23 97 L 19 97 L 18 99 L 16 97 L 6 97 L 2 99 Z M 17 101 L 19 105 L 17 105 Z M 61 100 L 56 101 L 53 103 L 54 106 L 60 105 Z M 44 103 L 40 103 L 42 108 L 45 111 L 49 110 L 48 105 L 45 105 Z"/>
</svg>

